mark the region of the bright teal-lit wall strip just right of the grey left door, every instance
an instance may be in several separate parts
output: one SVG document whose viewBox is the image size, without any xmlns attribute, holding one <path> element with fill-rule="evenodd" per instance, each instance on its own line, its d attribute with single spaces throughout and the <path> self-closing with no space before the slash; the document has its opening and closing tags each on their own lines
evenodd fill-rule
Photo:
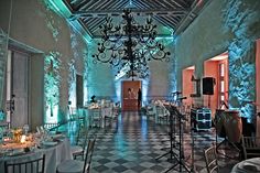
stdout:
<svg viewBox="0 0 260 173">
<path fill-rule="evenodd" d="M 58 122 L 58 101 L 59 101 L 59 56 L 58 52 L 50 52 L 44 58 L 44 97 L 45 117 L 44 122 Z"/>
</svg>

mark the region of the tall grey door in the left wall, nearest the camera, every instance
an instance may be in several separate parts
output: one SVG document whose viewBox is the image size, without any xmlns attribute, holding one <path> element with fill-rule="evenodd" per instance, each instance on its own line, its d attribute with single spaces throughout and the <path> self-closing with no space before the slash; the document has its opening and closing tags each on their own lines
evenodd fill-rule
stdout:
<svg viewBox="0 0 260 173">
<path fill-rule="evenodd" d="M 11 128 L 29 125 L 29 54 L 9 51 L 7 63 L 7 121 Z"/>
</svg>

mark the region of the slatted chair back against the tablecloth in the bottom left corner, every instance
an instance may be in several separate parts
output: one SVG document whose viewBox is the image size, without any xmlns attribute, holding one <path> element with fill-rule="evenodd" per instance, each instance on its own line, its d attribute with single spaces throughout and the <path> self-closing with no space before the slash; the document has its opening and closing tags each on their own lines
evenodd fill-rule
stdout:
<svg viewBox="0 0 260 173">
<path fill-rule="evenodd" d="M 26 161 L 24 161 L 26 160 Z M 4 162 L 4 173 L 43 173 L 45 169 L 45 154 L 36 159 L 19 159 Z"/>
</svg>

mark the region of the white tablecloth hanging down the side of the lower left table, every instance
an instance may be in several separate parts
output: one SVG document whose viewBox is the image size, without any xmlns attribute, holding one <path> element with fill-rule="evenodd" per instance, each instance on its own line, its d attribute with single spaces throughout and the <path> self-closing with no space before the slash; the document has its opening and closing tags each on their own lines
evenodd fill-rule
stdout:
<svg viewBox="0 0 260 173">
<path fill-rule="evenodd" d="M 0 173 L 4 172 L 4 161 L 32 160 L 40 154 L 45 154 L 45 173 L 55 173 L 58 163 L 72 159 L 69 140 L 65 138 L 54 147 L 37 149 L 23 155 L 0 158 Z"/>
</svg>

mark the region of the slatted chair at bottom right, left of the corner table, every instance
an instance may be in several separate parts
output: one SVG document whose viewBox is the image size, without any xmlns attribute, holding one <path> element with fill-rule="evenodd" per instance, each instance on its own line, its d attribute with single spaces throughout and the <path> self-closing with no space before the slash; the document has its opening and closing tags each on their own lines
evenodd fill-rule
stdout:
<svg viewBox="0 0 260 173">
<path fill-rule="evenodd" d="M 212 145 L 204 150 L 204 158 L 206 162 L 207 173 L 219 172 L 216 145 Z"/>
</svg>

